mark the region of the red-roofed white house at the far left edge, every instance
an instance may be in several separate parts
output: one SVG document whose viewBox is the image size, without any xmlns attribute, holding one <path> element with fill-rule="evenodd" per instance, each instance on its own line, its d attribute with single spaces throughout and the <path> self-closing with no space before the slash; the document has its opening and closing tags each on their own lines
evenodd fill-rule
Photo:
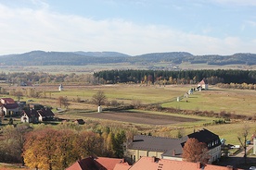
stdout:
<svg viewBox="0 0 256 170">
<path fill-rule="evenodd" d="M 12 98 L 0 99 L 0 112 L 5 116 L 17 116 L 19 115 L 19 104 Z"/>
</svg>

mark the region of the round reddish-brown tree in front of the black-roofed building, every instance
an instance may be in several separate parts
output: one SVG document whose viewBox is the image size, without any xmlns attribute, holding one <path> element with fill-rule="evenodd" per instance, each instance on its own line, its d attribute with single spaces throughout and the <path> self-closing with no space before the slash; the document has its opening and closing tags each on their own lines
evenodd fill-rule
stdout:
<svg viewBox="0 0 256 170">
<path fill-rule="evenodd" d="M 206 143 L 199 142 L 194 138 L 186 140 L 182 157 L 187 162 L 202 164 L 207 164 L 210 158 Z"/>
</svg>

